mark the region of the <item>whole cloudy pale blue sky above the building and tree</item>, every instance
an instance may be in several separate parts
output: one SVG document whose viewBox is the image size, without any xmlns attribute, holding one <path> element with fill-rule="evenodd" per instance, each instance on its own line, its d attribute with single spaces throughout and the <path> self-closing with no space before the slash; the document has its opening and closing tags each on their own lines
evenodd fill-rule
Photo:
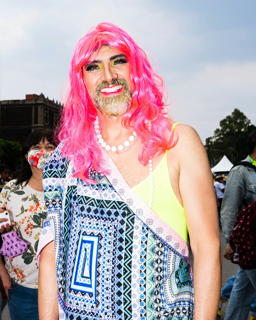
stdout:
<svg viewBox="0 0 256 320">
<path fill-rule="evenodd" d="M 255 12 L 255 0 L 1 0 L 0 100 L 60 101 L 77 42 L 109 21 L 147 52 L 170 116 L 203 142 L 235 108 L 256 125 Z"/>
</svg>

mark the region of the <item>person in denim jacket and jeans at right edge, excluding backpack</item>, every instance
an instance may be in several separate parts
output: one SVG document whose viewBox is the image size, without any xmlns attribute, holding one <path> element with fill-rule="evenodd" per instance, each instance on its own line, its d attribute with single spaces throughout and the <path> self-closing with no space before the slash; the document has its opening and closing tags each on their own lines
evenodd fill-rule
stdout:
<svg viewBox="0 0 256 320">
<path fill-rule="evenodd" d="M 256 130 L 247 139 L 249 155 L 243 161 L 256 166 Z M 231 236 L 238 212 L 256 200 L 256 170 L 239 165 L 228 174 L 221 206 L 221 222 L 227 247 L 224 258 L 230 259 L 228 238 Z M 244 270 L 238 267 L 236 280 L 229 298 L 224 320 L 246 320 L 250 304 L 256 292 L 256 269 Z"/>
</svg>

